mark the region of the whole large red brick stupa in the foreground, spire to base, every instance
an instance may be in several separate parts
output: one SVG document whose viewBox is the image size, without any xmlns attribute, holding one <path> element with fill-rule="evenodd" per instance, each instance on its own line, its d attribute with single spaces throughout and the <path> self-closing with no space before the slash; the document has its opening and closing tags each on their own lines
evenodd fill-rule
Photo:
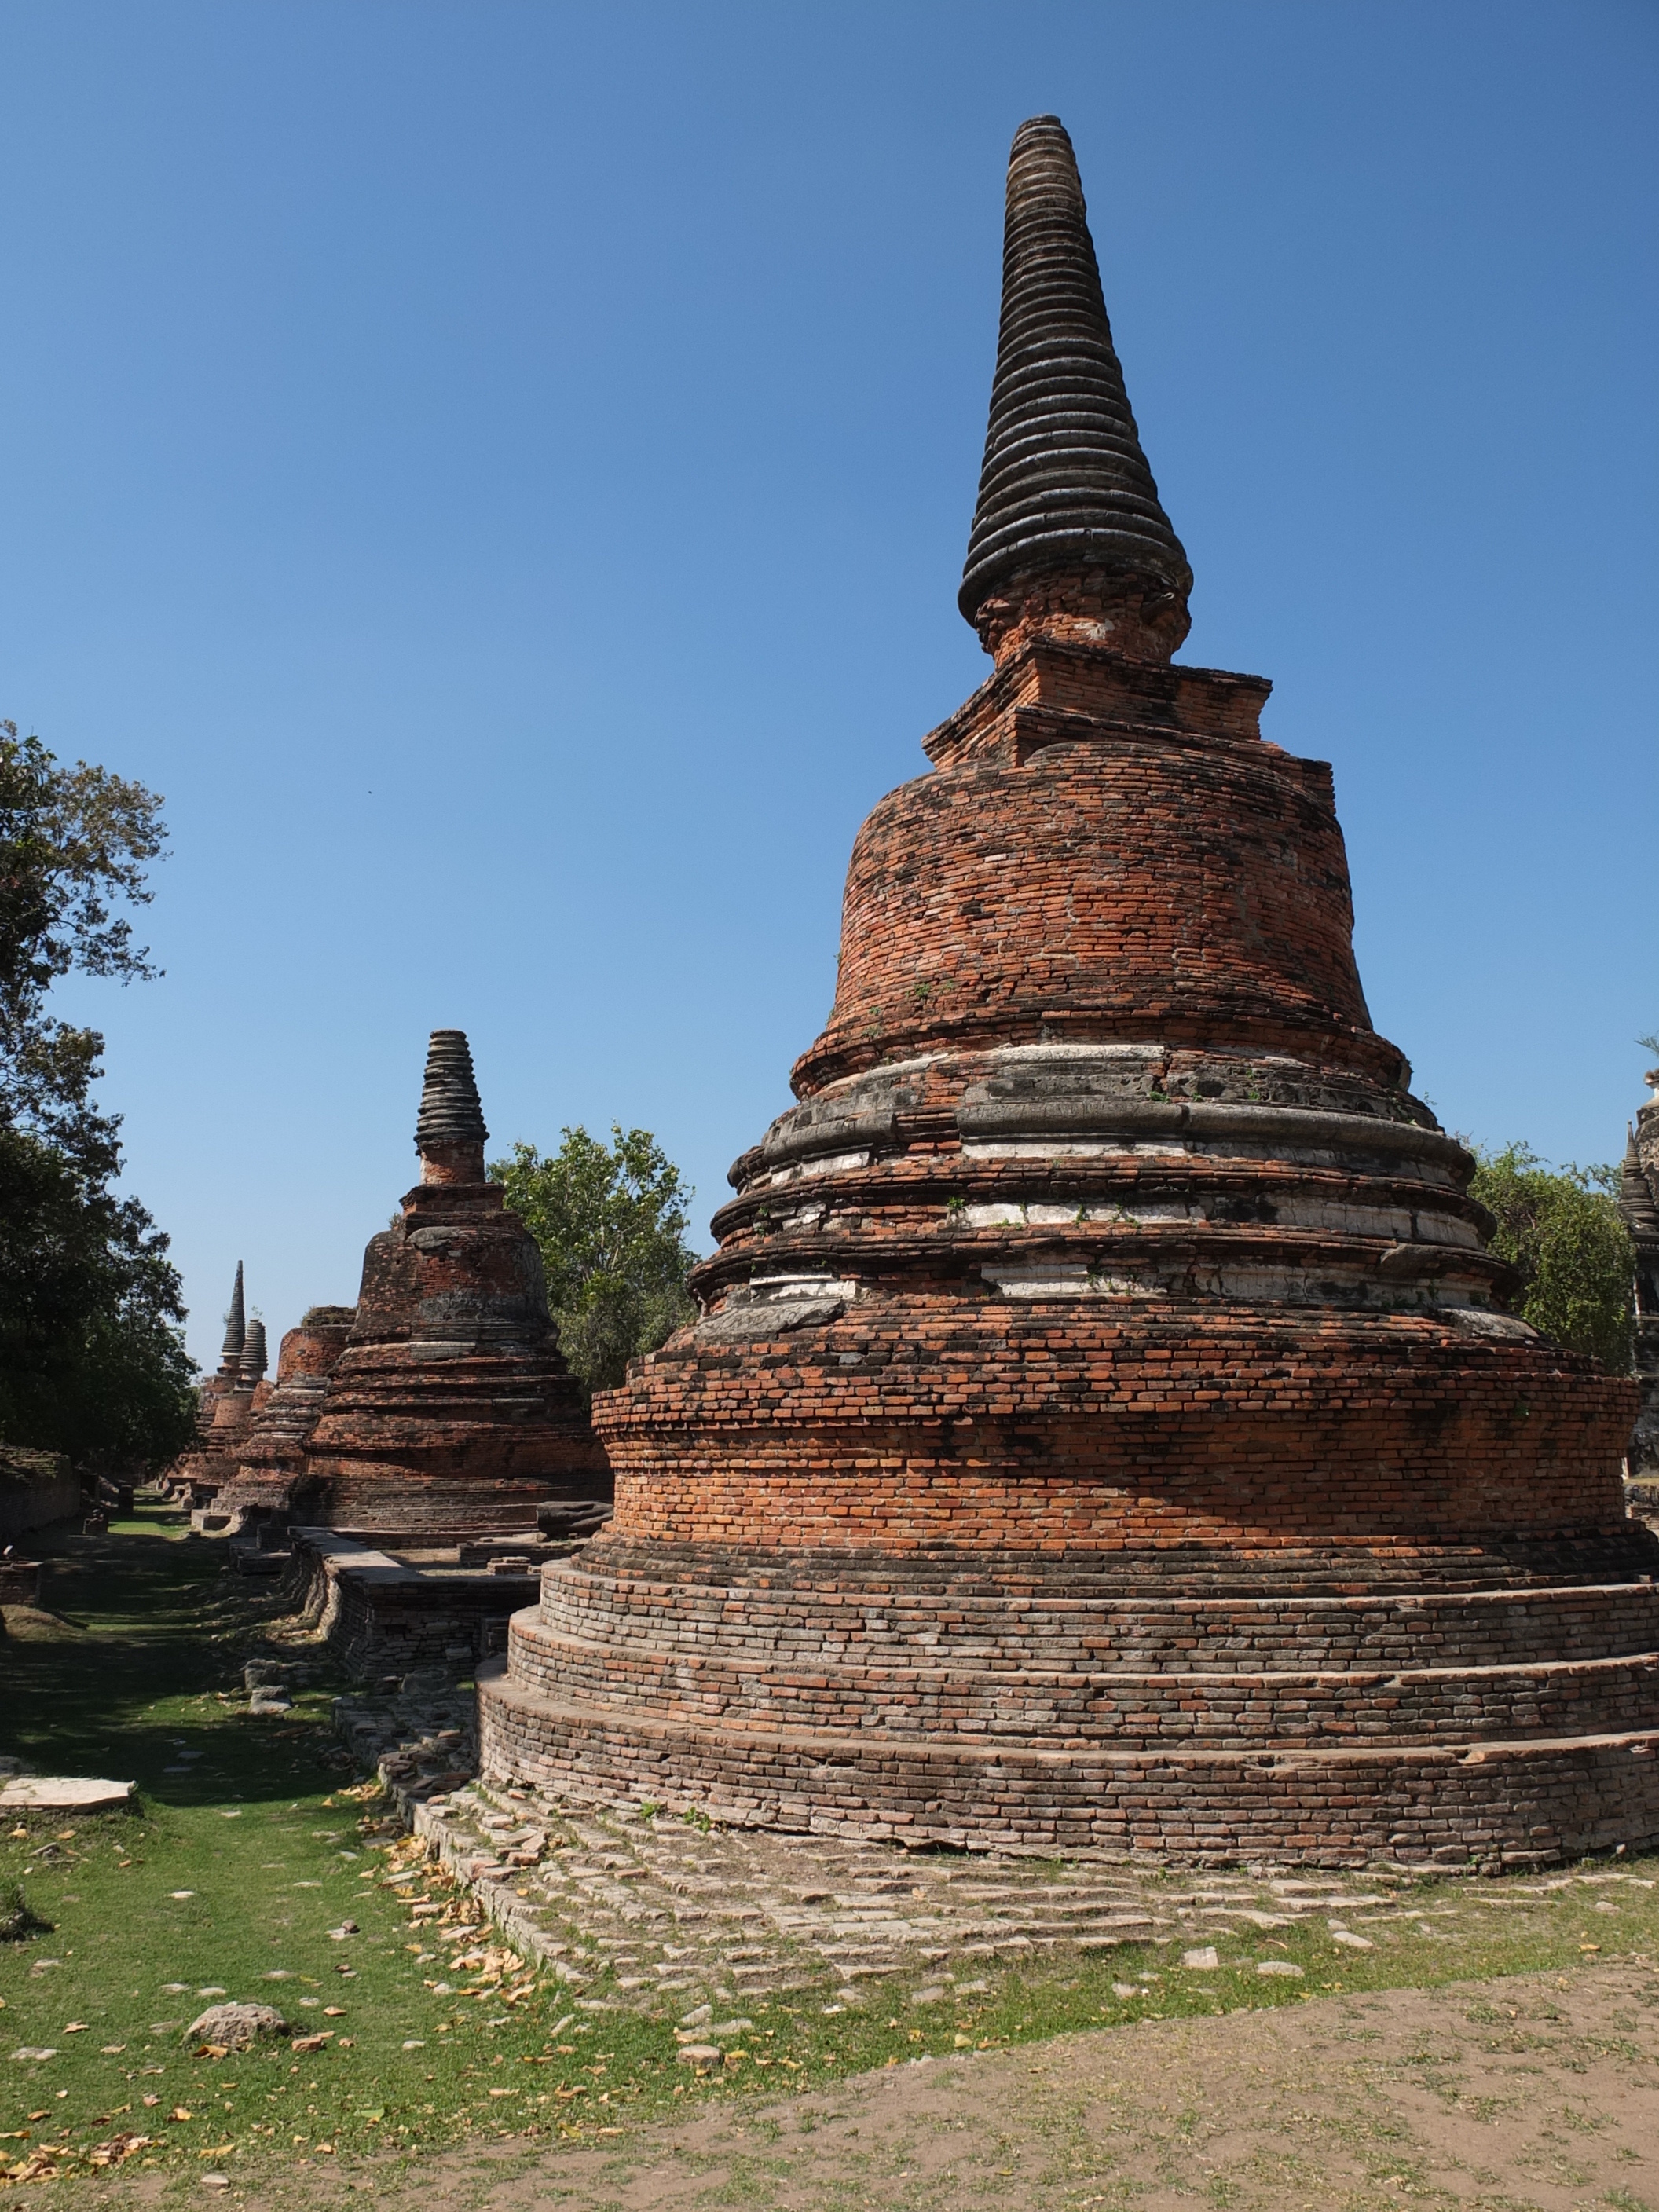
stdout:
<svg viewBox="0 0 1659 2212">
<path fill-rule="evenodd" d="M 1659 1836 L 1635 1387 L 1504 1312 L 1369 1022 L 1332 772 L 1172 664 L 1190 571 L 1071 142 L 1009 168 L 960 604 L 830 1024 L 489 1774 L 911 1843 L 1528 1863 Z"/>
</svg>

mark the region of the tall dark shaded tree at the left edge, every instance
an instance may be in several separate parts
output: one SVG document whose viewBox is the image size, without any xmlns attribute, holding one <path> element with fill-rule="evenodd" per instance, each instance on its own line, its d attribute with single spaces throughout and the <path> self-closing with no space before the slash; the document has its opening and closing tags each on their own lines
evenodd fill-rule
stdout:
<svg viewBox="0 0 1659 2212">
<path fill-rule="evenodd" d="M 192 1425 L 168 1241 L 111 1188 L 104 1040 L 46 1009 L 71 969 L 155 973 L 119 909 L 148 902 L 161 838 L 144 785 L 0 721 L 0 1438 L 82 1464 L 161 1464 Z"/>
</svg>

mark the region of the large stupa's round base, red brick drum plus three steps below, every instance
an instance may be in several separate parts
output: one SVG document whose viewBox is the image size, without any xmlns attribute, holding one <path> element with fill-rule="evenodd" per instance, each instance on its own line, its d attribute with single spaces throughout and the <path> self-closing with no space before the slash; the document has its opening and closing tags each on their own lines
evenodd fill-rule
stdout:
<svg viewBox="0 0 1659 2212">
<path fill-rule="evenodd" d="M 1588 1363 L 1473 1316 L 975 1318 L 949 1458 L 947 1420 L 827 1436 L 907 1352 L 911 1402 L 938 1389 L 914 1312 L 765 1347 L 783 1418 L 719 1460 L 703 1420 L 661 1482 L 626 1471 L 608 1400 L 619 1517 L 480 1681 L 484 1772 L 978 1849 L 1659 1840 L 1659 1544 L 1619 1517 L 1621 1407 Z M 739 1358 L 752 1387 L 757 1349 L 657 1354 L 637 1433 L 708 1413 Z M 1057 1413 L 1082 1376 L 1093 1409 Z M 816 1436 L 787 1418 L 807 1400 Z"/>
</svg>

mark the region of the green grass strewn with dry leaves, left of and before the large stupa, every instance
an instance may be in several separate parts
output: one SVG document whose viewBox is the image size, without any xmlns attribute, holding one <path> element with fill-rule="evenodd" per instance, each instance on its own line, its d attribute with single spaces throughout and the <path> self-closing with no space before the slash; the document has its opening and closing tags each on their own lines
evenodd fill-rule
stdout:
<svg viewBox="0 0 1659 2212">
<path fill-rule="evenodd" d="M 374 1785 L 345 1770 L 332 1686 L 301 1692 L 281 1721 L 246 1712 L 241 1661 L 274 1601 L 226 1575 L 223 1557 L 146 1509 L 108 1540 L 60 1546 L 55 1621 L 11 1613 L 0 1745 L 42 1772 L 137 1778 L 142 1798 L 133 1814 L 35 1814 L 0 1834 L 0 1891 L 20 1882 L 46 1924 L 0 1944 L 0 2174 L 33 2157 L 106 2194 L 95 2148 L 148 2135 L 126 2170 L 157 2166 L 190 2190 L 204 2170 L 268 2188 L 281 2170 L 303 2190 L 319 2161 L 374 2161 L 392 2179 L 405 2157 L 469 2137 L 593 2139 L 697 2099 L 776 2097 L 1075 2028 L 1659 1958 L 1659 1863 L 1582 1867 L 1533 1900 L 1515 1882 L 1438 1880 L 1409 1891 L 1422 1924 L 1367 1927 L 1376 1949 L 1363 1953 L 1318 1918 L 1214 1938 L 1223 1971 L 1208 1975 L 1179 1966 L 1177 1940 L 1024 1971 L 969 1964 L 962 1978 L 984 1973 L 987 1991 L 920 2008 L 907 2002 L 920 1980 L 872 1986 L 847 2011 L 830 2011 L 827 1991 L 754 2002 L 743 2057 L 692 2077 L 675 2062 L 675 2011 L 584 2013 L 557 1982 L 531 1982 L 431 1867 L 414 1896 L 442 1918 L 411 1922 L 409 1900 L 385 1887 L 387 1854 L 418 1854 Z M 1150 1893 L 1181 1887 L 1168 1876 Z M 358 1933 L 334 1940 L 345 1920 Z M 484 1971 L 458 1966 L 480 1949 L 493 1953 Z M 1303 1978 L 1263 1980 L 1263 1958 Z M 1155 1975 L 1146 1995 L 1115 1995 L 1139 1975 Z M 332 2039 L 303 2055 L 197 2055 L 184 2028 L 217 2002 L 212 1989 L 274 2002 L 296 2033 Z M 584 1995 L 604 2000 L 604 1986 Z M 1504 2031 L 1502 2008 L 1493 2026 Z M 24 2046 L 55 2057 L 13 2059 Z M 44 2146 L 58 2146 L 51 2161 Z"/>
</svg>

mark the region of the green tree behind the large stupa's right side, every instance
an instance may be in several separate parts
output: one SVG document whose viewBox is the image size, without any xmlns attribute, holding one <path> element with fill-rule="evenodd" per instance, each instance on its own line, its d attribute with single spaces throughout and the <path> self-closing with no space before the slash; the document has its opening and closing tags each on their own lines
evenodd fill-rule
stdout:
<svg viewBox="0 0 1659 2212">
<path fill-rule="evenodd" d="M 1531 1146 L 1475 1146 L 1469 1194 L 1498 1221 L 1493 1252 L 1522 1276 L 1517 1312 L 1568 1352 L 1630 1371 L 1635 1243 L 1613 1201 L 1615 1168 L 1548 1168 Z"/>
</svg>

